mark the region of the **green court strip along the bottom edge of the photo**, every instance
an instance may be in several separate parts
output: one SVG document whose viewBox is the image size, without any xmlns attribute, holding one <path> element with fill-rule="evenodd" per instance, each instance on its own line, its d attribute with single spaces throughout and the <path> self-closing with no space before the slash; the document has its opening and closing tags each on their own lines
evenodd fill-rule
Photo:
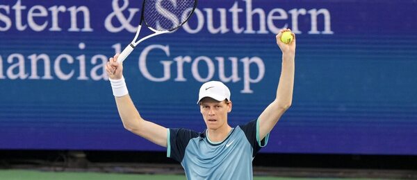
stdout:
<svg viewBox="0 0 417 180">
<path fill-rule="evenodd" d="M 47 172 L 38 170 L 0 170 L 1 180 L 179 180 L 186 179 L 184 175 L 167 174 L 117 174 L 105 172 Z M 359 180 L 361 178 L 295 178 L 295 177 L 254 177 L 255 180 L 318 180 L 318 179 L 338 179 L 338 180 Z M 366 180 L 366 179 L 361 179 Z M 376 180 L 376 179 L 369 179 Z"/>
</svg>

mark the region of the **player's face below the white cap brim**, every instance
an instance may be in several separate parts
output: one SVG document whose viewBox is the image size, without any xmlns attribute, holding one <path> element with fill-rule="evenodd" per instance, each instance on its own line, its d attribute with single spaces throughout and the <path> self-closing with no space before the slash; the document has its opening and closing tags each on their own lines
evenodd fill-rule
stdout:
<svg viewBox="0 0 417 180">
<path fill-rule="evenodd" d="M 199 104 L 207 129 L 219 129 L 228 125 L 227 113 L 231 111 L 231 101 L 203 98 Z"/>
</svg>

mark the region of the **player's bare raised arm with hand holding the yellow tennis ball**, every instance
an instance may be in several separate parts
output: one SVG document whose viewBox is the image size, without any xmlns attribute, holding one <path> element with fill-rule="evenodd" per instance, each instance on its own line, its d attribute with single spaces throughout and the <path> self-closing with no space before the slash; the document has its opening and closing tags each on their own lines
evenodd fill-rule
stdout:
<svg viewBox="0 0 417 180">
<path fill-rule="evenodd" d="M 263 110 L 261 116 L 259 116 L 259 136 L 263 139 L 277 124 L 282 114 L 291 106 L 293 101 L 293 87 L 294 87 L 294 71 L 295 71 L 295 35 L 293 35 L 293 41 L 290 44 L 284 44 L 280 38 L 284 31 L 276 36 L 277 44 L 282 51 L 282 66 L 281 76 L 279 77 L 279 84 L 277 88 L 277 96 L 275 100 Z"/>
</svg>

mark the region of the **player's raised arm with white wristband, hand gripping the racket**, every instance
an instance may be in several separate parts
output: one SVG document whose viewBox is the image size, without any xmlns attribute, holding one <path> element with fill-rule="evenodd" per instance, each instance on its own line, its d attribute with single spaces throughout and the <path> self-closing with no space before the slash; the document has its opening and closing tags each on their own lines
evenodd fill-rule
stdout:
<svg viewBox="0 0 417 180">
<path fill-rule="evenodd" d="M 111 57 L 109 62 L 107 62 L 106 72 L 112 83 L 117 110 L 120 118 L 122 118 L 124 128 L 152 141 L 152 143 L 167 147 L 167 129 L 143 119 L 138 109 L 133 105 L 133 101 L 124 85 L 123 66 L 117 62 L 117 57 L 118 54 Z"/>
</svg>

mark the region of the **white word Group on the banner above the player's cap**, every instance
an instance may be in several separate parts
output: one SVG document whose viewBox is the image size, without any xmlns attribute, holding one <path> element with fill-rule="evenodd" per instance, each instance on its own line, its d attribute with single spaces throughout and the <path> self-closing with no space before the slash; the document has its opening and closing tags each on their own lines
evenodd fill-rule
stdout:
<svg viewBox="0 0 417 180">
<path fill-rule="evenodd" d="M 154 75 L 151 75 L 148 71 L 147 67 L 147 57 L 149 57 L 149 52 L 153 51 L 154 49 L 160 49 L 163 50 L 163 53 L 167 55 L 167 57 L 170 57 L 170 48 L 169 46 L 162 46 L 158 44 L 147 46 L 139 57 L 139 69 L 142 75 L 147 78 L 148 80 L 151 80 L 153 82 L 164 82 L 167 80 L 170 80 L 171 78 L 171 71 L 170 66 L 172 62 L 176 62 L 177 65 L 177 78 L 174 78 L 174 82 L 186 82 L 187 74 L 184 71 L 184 64 L 191 64 L 190 72 L 191 75 L 193 75 L 193 78 L 197 80 L 198 82 L 206 82 L 208 80 L 211 80 L 214 78 L 215 75 L 215 64 L 213 60 L 211 60 L 210 57 L 206 56 L 198 56 L 193 59 L 193 57 L 190 57 L 189 55 L 185 56 L 177 56 L 174 57 L 174 60 L 172 61 L 161 61 L 161 64 L 163 64 L 163 77 L 156 78 Z M 227 65 L 227 67 L 230 67 L 230 71 L 226 71 L 225 66 L 225 59 L 224 57 L 214 57 L 215 60 L 218 62 L 218 78 L 222 82 L 239 82 L 241 79 L 239 77 L 239 66 L 238 66 L 238 57 L 228 57 L 227 59 L 230 60 L 231 64 Z M 200 63 L 202 62 L 202 63 Z M 243 57 L 240 59 L 240 62 L 243 63 L 243 90 L 241 90 L 241 93 L 253 93 L 254 91 L 250 89 L 250 84 L 261 82 L 263 79 L 263 76 L 265 75 L 265 64 L 263 64 L 263 60 L 260 57 Z M 252 78 L 251 75 L 251 69 L 250 67 L 256 66 L 258 71 L 256 78 Z M 253 68 L 252 68 L 253 69 Z M 227 72 L 231 72 L 230 75 Z M 184 74 L 185 73 L 185 74 Z M 202 73 L 206 73 L 206 75 L 202 75 Z M 226 75 L 228 74 L 228 76 Z"/>
</svg>

